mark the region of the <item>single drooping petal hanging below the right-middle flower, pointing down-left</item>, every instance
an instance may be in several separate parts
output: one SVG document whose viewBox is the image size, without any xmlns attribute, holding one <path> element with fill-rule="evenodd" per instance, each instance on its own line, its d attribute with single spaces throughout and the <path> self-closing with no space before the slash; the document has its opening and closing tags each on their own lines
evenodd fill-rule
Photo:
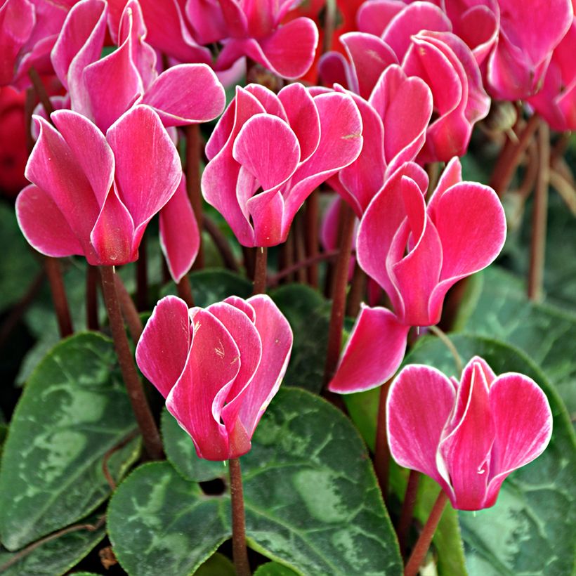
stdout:
<svg viewBox="0 0 576 576">
<path fill-rule="evenodd" d="M 329 391 L 350 394 L 384 384 L 404 358 L 409 330 L 390 310 L 362 304 Z"/>
</svg>

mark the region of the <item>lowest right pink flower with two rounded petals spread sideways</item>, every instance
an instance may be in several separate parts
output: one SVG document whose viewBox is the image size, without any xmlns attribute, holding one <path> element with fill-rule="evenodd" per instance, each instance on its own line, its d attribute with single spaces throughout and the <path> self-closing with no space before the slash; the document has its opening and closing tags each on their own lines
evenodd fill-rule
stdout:
<svg viewBox="0 0 576 576">
<path fill-rule="evenodd" d="M 410 365 L 386 402 L 388 443 L 400 466 L 431 476 L 459 510 L 490 508 L 504 478 L 549 443 L 552 413 L 532 379 L 498 377 L 472 358 L 462 379 Z"/>
</svg>

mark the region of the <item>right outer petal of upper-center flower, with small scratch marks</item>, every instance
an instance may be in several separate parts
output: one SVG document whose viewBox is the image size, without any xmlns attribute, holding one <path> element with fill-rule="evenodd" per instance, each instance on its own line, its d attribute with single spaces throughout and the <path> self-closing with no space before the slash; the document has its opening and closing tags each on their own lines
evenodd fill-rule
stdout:
<svg viewBox="0 0 576 576">
<path fill-rule="evenodd" d="M 320 143 L 292 176 L 292 189 L 285 197 L 288 226 L 310 192 L 354 162 L 362 150 L 362 117 L 348 94 L 323 93 L 314 97 L 314 103 L 320 117 Z"/>
</svg>

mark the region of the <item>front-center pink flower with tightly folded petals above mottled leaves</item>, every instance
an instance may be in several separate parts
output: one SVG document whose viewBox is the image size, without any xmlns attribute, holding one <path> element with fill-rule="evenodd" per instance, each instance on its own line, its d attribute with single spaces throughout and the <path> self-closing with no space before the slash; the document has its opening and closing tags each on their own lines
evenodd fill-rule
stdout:
<svg viewBox="0 0 576 576">
<path fill-rule="evenodd" d="M 190 310 L 166 296 L 148 320 L 136 361 L 198 456 L 226 460 L 250 450 L 291 351 L 292 329 L 266 295 Z"/>
</svg>

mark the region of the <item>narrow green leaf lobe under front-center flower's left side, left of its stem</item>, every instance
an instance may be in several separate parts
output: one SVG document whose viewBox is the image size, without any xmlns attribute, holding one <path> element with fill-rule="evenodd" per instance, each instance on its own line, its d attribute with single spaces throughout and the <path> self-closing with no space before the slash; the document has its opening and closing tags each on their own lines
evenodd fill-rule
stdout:
<svg viewBox="0 0 576 576">
<path fill-rule="evenodd" d="M 228 476 L 224 462 L 211 462 L 196 456 L 190 457 L 190 450 L 194 451 L 192 438 L 182 430 L 176 418 L 166 409 L 162 411 L 162 438 L 166 457 L 186 478 L 206 482 Z"/>
</svg>

